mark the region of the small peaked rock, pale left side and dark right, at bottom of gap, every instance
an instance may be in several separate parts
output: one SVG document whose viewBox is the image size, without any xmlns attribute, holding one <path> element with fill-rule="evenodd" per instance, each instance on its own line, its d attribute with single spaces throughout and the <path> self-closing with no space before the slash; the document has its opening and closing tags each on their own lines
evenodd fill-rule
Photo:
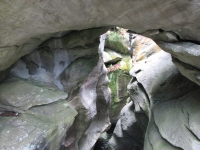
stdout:
<svg viewBox="0 0 200 150">
<path fill-rule="evenodd" d="M 109 141 L 109 150 L 142 150 L 144 134 L 148 124 L 148 117 L 134 112 L 133 102 L 127 104 L 121 111 L 113 136 Z"/>
</svg>

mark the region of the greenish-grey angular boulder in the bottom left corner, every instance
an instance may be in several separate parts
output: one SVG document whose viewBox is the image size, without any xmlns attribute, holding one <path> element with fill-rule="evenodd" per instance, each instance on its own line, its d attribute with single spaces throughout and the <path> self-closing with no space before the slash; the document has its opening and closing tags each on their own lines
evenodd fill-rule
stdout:
<svg viewBox="0 0 200 150">
<path fill-rule="evenodd" d="M 62 100 L 35 106 L 18 117 L 1 116 L 0 148 L 59 150 L 76 114 L 76 110 Z"/>
</svg>

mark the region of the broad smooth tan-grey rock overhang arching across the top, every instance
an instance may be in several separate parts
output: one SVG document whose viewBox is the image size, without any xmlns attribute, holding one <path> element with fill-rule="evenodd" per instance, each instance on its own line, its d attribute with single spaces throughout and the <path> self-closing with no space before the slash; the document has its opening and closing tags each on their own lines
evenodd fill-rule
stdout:
<svg viewBox="0 0 200 150">
<path fill-rule="evenodd" d="M 1 71 L 63 31 L 116 25 L 138 33 L 170 30 L 182 39 L 199 41 L 198 0 L 3 1 L 0 14 Z"/>
</svg>

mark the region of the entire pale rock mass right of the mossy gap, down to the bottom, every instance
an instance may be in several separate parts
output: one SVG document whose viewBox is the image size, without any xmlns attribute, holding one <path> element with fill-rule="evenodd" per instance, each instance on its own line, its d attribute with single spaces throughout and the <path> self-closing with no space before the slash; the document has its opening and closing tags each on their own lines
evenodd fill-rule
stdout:
<svg viewBox="0 0 200 150">
<path fill-rule="evenodd" d="M 171 56 L 163 51 L 135 64 L 130 74 L 133 78 L 128 85 L 128 90 L 134 104 L 131 102 L 122 109 L 120 120 L 109 142 L 109 149 L 192 150 L 195 149 L 194 147 L 198 149 L 199 141 L 195 139 L 196 136 L 193 136 L 197 132 L 193 130 L 190 121 L 189 123 L 187 121 L 190 120 L 191 107 L 198 107 L 197 102 L 193 103 L 198 99 L 192 97 L 198 97 L 199 86 L 182 76 L 172 63 Z M 192 101 L 187 95 L 191 95 Z M 189 104 L 182 106 L 182 101 Z M 180 111 L 178 112 L 177 109 Z M 188 120 L 181 119 L 180 122 L 183 122 L 180 123 L 179 119 L 176 119 L 179 118 L 178 116 Z M 197 126 L 198 121 L 194 120 L 192 124 Z M 181 129 L 179 129 L 180 125 L 175 125 L 179 123 L 183 126 Z M 179 130 L 185 130 L 186 133 L 181 134 Z M 195 139 L 196 143 L 180 142 L 190 141 L 190 139 Z"/>
</svg>

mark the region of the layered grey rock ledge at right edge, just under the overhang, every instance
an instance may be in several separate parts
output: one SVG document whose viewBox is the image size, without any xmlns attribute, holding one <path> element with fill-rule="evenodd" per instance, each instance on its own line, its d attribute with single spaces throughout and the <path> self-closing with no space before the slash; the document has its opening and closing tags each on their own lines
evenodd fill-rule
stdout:
<svg viewBox="0 0 200 150">
<path fill-rule="evenodd" d="M 179 71 L 191 81 L 200 85 L 199 48 L 198 44 L 191 42 L 176 42 L 158 44 L 173 57 L 173 62 Z"/>
</svg>

